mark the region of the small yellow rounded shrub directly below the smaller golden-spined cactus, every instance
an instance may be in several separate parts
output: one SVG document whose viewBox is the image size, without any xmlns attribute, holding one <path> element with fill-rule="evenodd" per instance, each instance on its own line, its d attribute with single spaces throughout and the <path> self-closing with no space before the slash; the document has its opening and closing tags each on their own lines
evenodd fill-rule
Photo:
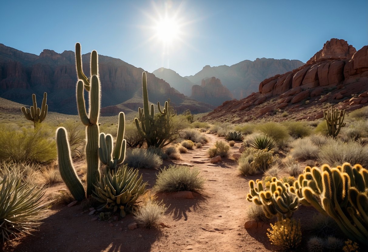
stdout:
<svg viewBox="0 0 368 252">
<path fill-rule="evenodd" d="M 267 231 L 272 244 L 285 249 L 296 248 L 301 242 L 300 222 L 295 219 L 280 220 Z"/>
</svg>

